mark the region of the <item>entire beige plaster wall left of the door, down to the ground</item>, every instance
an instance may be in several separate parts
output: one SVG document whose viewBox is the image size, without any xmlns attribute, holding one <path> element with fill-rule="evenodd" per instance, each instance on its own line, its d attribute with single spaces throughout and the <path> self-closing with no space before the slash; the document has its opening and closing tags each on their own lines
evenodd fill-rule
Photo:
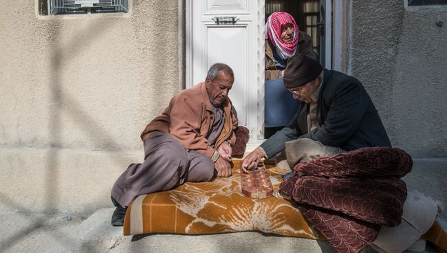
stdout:
<svg viewBox="0 0 447 253">
<path fill-rule="evenodd" d="M 179 82 L 177 1 L 131 14 L 38 19 L 0 12 L 0 208 L 87 212 L 142 159 L 140 133 Z"/>
</svg>

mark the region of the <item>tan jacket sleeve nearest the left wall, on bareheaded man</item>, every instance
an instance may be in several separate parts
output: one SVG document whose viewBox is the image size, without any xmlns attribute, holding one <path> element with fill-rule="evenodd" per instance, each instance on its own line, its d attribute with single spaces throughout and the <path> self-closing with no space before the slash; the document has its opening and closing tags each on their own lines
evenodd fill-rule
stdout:
<svg viewBox="0 0 447 253">
<path fill-rule="evenodd" d="M 185 148 L 193 149 L 208 157 L 212 157 L 215 149 L 208 144 L 205 137 L 201 137 L 202 119 L 201 103 L 191 102 L 191 98 L 179 96 L 171 109 L 171 125 L 169 133 L 175 136 Z"/>
</svg>

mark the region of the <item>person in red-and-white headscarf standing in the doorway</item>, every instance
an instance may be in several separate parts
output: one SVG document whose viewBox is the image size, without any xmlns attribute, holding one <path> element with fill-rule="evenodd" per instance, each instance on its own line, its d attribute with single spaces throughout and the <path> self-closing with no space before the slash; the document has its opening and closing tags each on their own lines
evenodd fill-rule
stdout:
<svg viewBox="0 0 447 253">
<path fill-rule="evenodd" d="M 282 80 L 287 59 L 295 54 L 316 59 L 311 37 L 298 30 L 287 12 L 273 12 L 265 23 L 265 138 L 283 129 L 299 109 L 299 101 L 285 89 Z"/>
</svg>

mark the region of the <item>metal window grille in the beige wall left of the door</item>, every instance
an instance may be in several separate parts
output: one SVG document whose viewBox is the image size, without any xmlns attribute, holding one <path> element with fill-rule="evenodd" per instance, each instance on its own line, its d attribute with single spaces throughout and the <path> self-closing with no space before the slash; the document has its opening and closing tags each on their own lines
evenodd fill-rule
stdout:
<svg viewBox="0 0 447 253">
<path fill-rule="evenodd" d="M 129 0 L 48 0 L 50 15 L 128 11 Z"/>
</svg>

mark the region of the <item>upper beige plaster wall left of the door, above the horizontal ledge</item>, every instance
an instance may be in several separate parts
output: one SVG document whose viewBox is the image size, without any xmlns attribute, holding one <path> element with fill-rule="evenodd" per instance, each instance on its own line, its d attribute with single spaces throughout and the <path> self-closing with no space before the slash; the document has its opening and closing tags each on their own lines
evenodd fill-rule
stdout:
<svg viewBox="0 0 447 253">
<path fill-rule="evenodd" d="M 139 148 L 135 133 L 181 87 L 176 1 L 65 20 L 12 1 L 0 24 L 3 148 Z"/>
</svg>

